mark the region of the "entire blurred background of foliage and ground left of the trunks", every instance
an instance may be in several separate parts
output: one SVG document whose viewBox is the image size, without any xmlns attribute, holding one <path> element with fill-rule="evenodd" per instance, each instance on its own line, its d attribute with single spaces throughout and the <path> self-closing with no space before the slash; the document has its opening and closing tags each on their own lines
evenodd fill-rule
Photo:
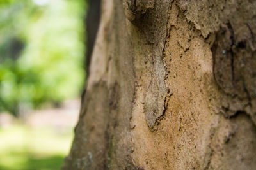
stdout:
<svg viewBox="0 0 256 170">
<path fill-rule="evenodd" d="M 60 169 L 85 82 L 84 0 L 0 1 L 0 169 Z"/>
</svg>

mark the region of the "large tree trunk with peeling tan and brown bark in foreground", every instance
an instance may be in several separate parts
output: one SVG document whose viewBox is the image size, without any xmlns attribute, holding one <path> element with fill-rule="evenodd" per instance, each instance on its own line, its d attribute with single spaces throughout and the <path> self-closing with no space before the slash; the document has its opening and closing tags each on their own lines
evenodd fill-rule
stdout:
<svg viewBox="0 0 256 170">
<path fill-rule="evenodd" d="M 255 169 L 256 1 L 102 3 L 63 169 Z"/>
</svg>

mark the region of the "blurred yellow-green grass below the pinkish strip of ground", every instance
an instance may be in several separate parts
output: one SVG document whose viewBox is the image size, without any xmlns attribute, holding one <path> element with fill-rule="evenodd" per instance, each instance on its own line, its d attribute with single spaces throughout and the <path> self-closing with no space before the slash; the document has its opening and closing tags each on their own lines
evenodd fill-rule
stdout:
<svg viewBox="0 0 256 170">
<path fill-rule="evenodd" d="M 0 169 L 60 169 L 72 141 L 72 128 L 31 128 L 13 125 L 0 129 Z"/>
</svg>

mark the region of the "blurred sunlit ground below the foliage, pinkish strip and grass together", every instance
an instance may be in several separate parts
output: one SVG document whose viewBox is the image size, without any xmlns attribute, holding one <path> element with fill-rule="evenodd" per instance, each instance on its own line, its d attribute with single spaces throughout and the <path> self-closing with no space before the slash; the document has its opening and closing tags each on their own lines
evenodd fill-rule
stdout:
<svg viewBox="0 0 256 170">
<path fill-rule="evenodd" d="M 1 115 L 0 169 L 60 169 L 70 150 L 79 100 L 32 111 L 26 120 Z"/>
</svg>

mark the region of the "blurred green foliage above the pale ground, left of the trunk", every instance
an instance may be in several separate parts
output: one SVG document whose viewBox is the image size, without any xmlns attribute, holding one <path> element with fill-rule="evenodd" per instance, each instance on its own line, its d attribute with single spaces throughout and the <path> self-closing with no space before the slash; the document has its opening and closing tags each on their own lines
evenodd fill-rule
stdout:
<svg viewBox="0 0 256 170">
<path fill-rule="evenodd" d="M 79 96 L 84 11 L 83 0 L 0 1 L 0 111 Z"/>
</svg>

